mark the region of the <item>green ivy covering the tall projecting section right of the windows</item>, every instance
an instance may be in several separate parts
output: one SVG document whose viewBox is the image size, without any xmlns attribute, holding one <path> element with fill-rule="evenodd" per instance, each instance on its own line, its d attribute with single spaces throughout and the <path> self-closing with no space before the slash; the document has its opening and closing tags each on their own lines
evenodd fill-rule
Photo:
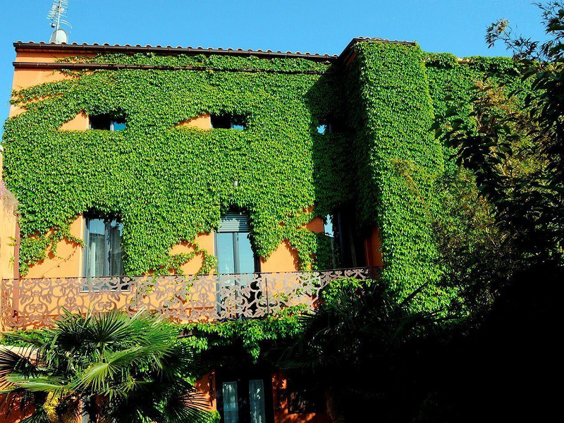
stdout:
<svg viewBox="0 0 564 423">
<path fill-rule="evenodd" d="M 355 128 L 358 216 L 378 226 L 381 278 L 400 298 L 427 284 L 426 307 L 443 305 L 441 268 L 431 232 L 432 187 L 443 171 L 422 51 L 403 44 L 358 43 L 347 69 Z"/>
</svg>

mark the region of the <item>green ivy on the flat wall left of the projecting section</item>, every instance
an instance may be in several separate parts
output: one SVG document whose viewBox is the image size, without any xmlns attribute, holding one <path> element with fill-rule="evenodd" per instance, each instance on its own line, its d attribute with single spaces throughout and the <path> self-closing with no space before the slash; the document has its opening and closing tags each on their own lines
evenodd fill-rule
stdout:
<svg viewBox="0 0 564 423">
<path fill-rule="evenodd" d="M 6 122 L 4 147 L 6 180 L 20 200 L 22 274 L 56 240 L 80 243 L 69 224 L 87 211 L 121 217 L 127 274 L 178 271 L 192 255 L 173 257 L 171 247 L 213 231 L 230 207 L 249 212 L 258 255 L 289 240 L 302 268 L 312 265 L 320 237 L 305 224 L 350 195 L 348 135 L 316 128 L 343 114 L 328 64 L 153 54 L 87 60 L 216 71 L 85 71 L 16 93 L 26 112 Z M 127 128 L 59 129 L 82 112 L 125 118 Z M 176 127 L 207 112 L 244 116 L 247 128 Z M 200 252 L 201 271 L 209 271 L 213 252 Z"/>
</svg>

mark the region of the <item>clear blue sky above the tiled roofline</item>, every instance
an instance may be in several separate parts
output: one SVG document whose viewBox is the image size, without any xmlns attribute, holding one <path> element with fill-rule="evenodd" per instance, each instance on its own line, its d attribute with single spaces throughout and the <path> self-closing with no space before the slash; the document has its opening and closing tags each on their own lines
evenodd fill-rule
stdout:
<svg viewBox="0 0 564 423">
<path fill-rule="evenodd" d="M 544 36 L 530 0 L 186 1 L 69 0 L 71 42 L 272 49 L 339 54 L 351 38 L 416 40 L 425 51 L 501 56 L 487 25 L 507 18 Z M 16 54 L 12 42 L 48 41 L 51 0 L 0 0 L 0 115 L 8 115 Z"/>
</svg>

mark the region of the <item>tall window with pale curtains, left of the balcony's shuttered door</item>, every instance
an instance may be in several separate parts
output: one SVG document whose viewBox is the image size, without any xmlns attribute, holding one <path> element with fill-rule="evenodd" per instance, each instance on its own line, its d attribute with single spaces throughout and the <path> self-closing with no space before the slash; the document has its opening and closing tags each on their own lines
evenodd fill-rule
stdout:
<svg viewBox="0 0 564 423">
<path fill-rule="evenodd" d="M 122 275 L 123 224 L 116 219 L 89 217 L 85 223 L 85 276 Z"/>
</svg>

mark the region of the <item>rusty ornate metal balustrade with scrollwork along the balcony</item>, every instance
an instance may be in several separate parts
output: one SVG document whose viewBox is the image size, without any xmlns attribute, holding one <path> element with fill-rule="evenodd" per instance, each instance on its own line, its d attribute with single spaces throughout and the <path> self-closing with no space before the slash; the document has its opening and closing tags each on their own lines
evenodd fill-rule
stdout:
<svg viewBox="0 0 564 423">
<path fill-rule="evenodd" d="M 264 317 L 284 307 L 312 309 L 319 290 L 339 278 L 369 279 L 379 269 L 208 276 L 3 279 L 2 329 L 51 326 L 73 313 L 146 309 L 176 322 Z"/>
</svg>

